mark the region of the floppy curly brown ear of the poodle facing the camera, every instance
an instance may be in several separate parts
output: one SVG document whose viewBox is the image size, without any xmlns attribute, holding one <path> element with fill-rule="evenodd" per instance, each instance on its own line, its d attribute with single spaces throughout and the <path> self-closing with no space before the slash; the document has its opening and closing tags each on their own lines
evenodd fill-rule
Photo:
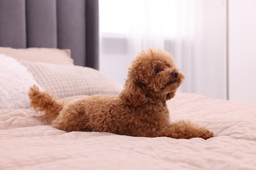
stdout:
<svg viewBox="0 0 256 170">
<path fill-rule="evenodd" d="M 126 105 L 139 106 L 146 103 L 146 95 L 143 92 L 144 84 L 135 80 L 127 80 L 119 97 Z"/>
</svg>

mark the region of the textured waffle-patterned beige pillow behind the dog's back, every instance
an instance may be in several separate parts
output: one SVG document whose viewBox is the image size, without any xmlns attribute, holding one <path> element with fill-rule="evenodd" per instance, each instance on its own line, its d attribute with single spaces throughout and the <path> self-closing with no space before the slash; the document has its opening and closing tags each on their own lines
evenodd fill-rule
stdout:
<svg viewBox="0 0 256 170">
<path fill-rule="evenodd" d="M 121 91 L 121 85 L 89 67 L 28 61 L 22 63 L 44 90 L 58 98 L 93 94 L 117 95 Z"/>
</svg>

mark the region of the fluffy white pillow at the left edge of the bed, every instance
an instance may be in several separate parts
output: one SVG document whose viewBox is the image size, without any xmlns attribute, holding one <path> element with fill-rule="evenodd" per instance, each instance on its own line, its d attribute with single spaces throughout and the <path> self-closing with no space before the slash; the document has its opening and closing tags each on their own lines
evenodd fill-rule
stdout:
<svg viewBox="0 0 256 170">
<path fill-rule="evenodd" d="M 0 80 L 0 109 L 30 107 L 28 90 L 37 83 L 24 65 L 14 58 L 0 54 Z"/>
</svg>

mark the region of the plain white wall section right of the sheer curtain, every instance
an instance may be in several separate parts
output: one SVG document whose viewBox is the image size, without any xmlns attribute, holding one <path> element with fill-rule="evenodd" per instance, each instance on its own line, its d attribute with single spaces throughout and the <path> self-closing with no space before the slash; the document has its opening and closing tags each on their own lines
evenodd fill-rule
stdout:
<svg viewBox="0 0 256 170">
<path fill-rule="evenodd" d="M 229 99 L 256 102 L 256 1 L 229 1 Z"/>
</svg>

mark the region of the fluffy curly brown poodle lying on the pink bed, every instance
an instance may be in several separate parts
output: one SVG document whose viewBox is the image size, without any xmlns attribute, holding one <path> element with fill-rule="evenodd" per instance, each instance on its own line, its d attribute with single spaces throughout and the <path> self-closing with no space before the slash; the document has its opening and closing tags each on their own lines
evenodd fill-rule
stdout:
<svg viewBox="0 0 256 170">
<path fill-rule="evenodd" d="M 129 69 L 117 96 L 91 95 L 63 105 L 36 86 L 30 88 L 32 107 L 45 111 L 48 122 L 64 131 L 101 131 L 135 137 L 208 139 L 213 133 L 186 121 L 171 123 L 166 101 L 174 97 L 184 75 L 162 50 L 144 50 Z"/>
</svg>

